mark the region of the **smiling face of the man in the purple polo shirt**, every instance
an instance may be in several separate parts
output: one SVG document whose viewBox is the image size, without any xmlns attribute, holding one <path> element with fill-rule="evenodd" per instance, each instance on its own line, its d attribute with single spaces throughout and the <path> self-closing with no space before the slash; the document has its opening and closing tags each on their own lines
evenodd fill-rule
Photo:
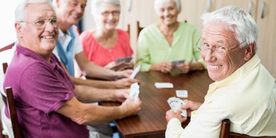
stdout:
<svg viewBox="0 0 276 138">
<path fill-rule="evenodd" d="M 21 44 L 38 53 L 51 55 L 58 41 L 55 11 L 48 4 L 28 4 L 23 23 L 16 23 Z"/>
</svg>

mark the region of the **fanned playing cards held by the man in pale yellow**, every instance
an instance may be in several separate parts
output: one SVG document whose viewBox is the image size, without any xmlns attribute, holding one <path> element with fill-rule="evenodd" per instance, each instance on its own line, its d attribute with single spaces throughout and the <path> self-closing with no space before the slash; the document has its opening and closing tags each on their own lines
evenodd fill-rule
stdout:
<svg viewBox="0 0 276 138">
<path fill-rule="evenodd" d="M 170 97 L 169 100 L 167 100 L 169 103 L 169 106 L 174 112 L 177 112 L 178 110 L 181 110 L 181 105 L 185 105 L 186 103 L 177 98 L 177 97 Z M 187 117 L 187 111 L 186 110 L 181 110 L 181 116 Z"/>
</svg>

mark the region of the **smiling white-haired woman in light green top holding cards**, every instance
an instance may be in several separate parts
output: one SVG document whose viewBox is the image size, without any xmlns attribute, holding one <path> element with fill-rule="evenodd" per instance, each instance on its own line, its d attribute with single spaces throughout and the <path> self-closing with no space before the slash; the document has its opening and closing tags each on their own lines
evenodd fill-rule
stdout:
<svg viewBox="0 0 276 138">
<path fill-rule="evenodd" d="M 197 29 L 189 23 L 179 23 L 179 0 L 155 0 L 154 8 L 159 23 L 144 28 L 139 34 L 137 65 L 142 71 L 159 70 L 169 73 L 176 69 L 181 73 L 203 70 L 203 59 L 196 48 L 200 38 Z M 185 60 L 184 63 L 172 61 Z"/>
</svg>

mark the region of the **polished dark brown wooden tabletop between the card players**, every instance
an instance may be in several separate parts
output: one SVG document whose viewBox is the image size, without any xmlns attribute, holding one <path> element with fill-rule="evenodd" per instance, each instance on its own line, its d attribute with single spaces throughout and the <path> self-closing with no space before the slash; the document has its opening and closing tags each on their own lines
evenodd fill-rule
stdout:
<svg viewBox="0 0 276 138">
<path fill-rule="evenodd" d="M 166 101 L 169 97 L 176 97 L 176 90 L 188 90 L 187 99 L 203 102 L 208 85 L 213 82 L 206 70 L 176 76 L 155 71 L 140 72 L 136 78 L 141 80 L 139 97 L 142 100 L 142 110 L 138 115 L 115 120 L 123 137 L 165 137 L 165 115 L 170 109 Z M 156 82 L 173 83 L 174 88 L 157 89 L 154 87 Z M 104 102 L 103 105 L 118 103 Z M 183 126 L 188 122 L 184 122 Z"/>
</svg>

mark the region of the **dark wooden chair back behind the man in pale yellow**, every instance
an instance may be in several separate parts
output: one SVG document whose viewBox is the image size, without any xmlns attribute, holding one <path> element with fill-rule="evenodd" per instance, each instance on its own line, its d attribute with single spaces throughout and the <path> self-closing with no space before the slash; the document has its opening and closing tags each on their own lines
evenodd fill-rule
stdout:
<svg viewBox="0 0 276 138">
<path fill-rule="evenodd" d="M 230 120 L 223 120 L 221 123 L 221 134 L 220 138 L 276 138 L 276 136 L 262 136 L 262 137 L 251 137 L 246 134 L 238 134 L 230 132 Z"/>
</svg>

